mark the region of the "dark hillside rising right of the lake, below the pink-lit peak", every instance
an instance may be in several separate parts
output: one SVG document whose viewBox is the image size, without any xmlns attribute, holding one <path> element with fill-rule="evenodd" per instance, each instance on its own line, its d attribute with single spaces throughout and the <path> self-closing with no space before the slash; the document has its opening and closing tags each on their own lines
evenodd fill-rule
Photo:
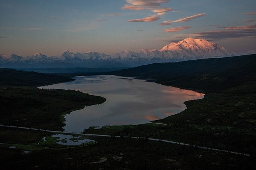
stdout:
<svg viewBox="0 0 256 170">
<path fill-rule="evenodd" d="M 150 77 L 164 85 L 217 92 L 249 82 L 255 84 L 256 55 L 156 63 L 110 73 Z"/>
</svg>

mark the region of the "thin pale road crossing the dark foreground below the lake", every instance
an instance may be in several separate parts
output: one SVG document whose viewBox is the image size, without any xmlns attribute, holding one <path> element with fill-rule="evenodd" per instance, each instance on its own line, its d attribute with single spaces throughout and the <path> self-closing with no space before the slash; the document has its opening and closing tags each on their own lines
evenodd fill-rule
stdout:
<svg viewBox="0 0 256 170">
<path fill-rule="evenodd" d="M 89 134 L 89 133 L 50 131 L 50 130 L 39 129 L 39 128 L 36 129 L 36 128 L 20 127 L 20 126 L 9 126 L 9 125 L 0 125 L 0 127 L 12 127 L 12 128 L 19 128 L 19 129 L 30 129 L 30 130 L 36 130 L 36 131 L 45 131 L 45 132 L 51 132 L 51 133 L 64 133 L 64 134 L 71 134 L 71 135 L 112 137 L 112 135 L 98 135 L 98 134 Z M 121 136 L 115 136 L 115 137 L 121 137 Z M 128 138 L 127 136 L 122 136 L 122 137 Z M 138 139 L 139 137 L 131 137 L 131 138 Z M 233 151 L 228 151 L 228 150 L 214 149 L 214 148 L 209 148 L 209 147 L 200 147 L 200 146 L 196 146 L 196 145 L 189 145 L 189 144 L 186 144 L 186 143 L 167 141 L 167 140 L 162 140 L 162 139 L 154 139 L 154 138 L 147 138 L 147 139 L 150 140 L 150 141 L 161 141 L 161 142 L 172 143 L 172 144 L 177 144 L 177 145 L 192 146 L 192 147 L 196 147 L 196 148 L 199 148 L 199 149 L 216 150 L 216 151 L 228 152 L 228 153 L 232 153 L 232 154 L 250 156 L 250 154 L 245 154 L 245 153 L 240 153 L 240 152 L 233 152 Z"/>
</svg>

